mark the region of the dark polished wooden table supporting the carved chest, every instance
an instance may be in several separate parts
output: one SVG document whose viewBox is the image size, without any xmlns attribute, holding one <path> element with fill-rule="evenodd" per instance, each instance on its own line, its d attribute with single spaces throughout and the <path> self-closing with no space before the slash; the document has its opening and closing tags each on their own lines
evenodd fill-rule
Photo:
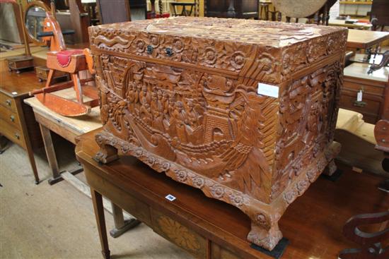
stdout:
<svg viewBox="0 0 389 259">
<path fill-rule="evenodd" d="M 158 174 L 134 157 L 121 157 L 109 164 L 95 162 L 98 131 L 81 136 L 76 156 L 91 186 L 105 258 L 110 257 L 110 251 L 102 195 L 197 258 L 271 258 L 250 247 L 246 241 L 250 220 L 236 207 Z M 354 246 L 342 236 L 347 219 L 389 206 L 387 194 L 376 189 L 381 178 L 341 168 L 344 174 L 337 182 L 320 177 L 286 210 L 279 222 L 290 241 L 283 259 L 337 258 L 343 248 Z M 176 199 L 167 200 L 169 194 Z"/>
</svg>

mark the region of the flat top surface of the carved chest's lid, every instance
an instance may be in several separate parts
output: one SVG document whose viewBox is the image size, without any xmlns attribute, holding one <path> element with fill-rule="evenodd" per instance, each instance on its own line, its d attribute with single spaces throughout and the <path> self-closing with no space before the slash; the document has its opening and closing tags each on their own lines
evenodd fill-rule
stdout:
<svg viewBox="0 0 389 259">
<path fill-rule="evenodd" d="M 195 37 L 222 42 L 285 47 L 342 30 L 338 27 L 279 23 L 263 20 L 172 17 L 93 27 L 107 32 L 146 32 L 169 37 Z"/>
</svg>

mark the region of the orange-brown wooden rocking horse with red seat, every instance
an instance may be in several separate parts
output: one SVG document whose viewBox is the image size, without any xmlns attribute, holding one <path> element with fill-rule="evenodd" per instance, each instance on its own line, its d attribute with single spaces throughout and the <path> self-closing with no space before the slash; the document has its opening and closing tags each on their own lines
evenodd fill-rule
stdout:
<svg viewBox="0 0 389 259">
<path fill-rule="evenodd" d="M 95 73 L 90 50 L 66 49 L 62 30 L 50 11 L 46 13 L 43 32 L 39 32 L 38 36 L 50 44 L 46 65 L 50 71 L 45 88 L 30 92 L 30 95 L 35 95 L 47 108 L 63 116 L 81 116 L 91 112 L 92 107 L 98 106 L 98 90 L 86 83 L 94 81 L 94 77 L 80 79 L 79 75 L 81 71 L 87 70 L 92 75 Z M 55 71 L 70 73 L 71 81 L 53 85 Z M 77 102 L 51 93 L 71 87 L 76 91 Z M 91 100 L 83 102 L 83 95 Z"/>
</svg>

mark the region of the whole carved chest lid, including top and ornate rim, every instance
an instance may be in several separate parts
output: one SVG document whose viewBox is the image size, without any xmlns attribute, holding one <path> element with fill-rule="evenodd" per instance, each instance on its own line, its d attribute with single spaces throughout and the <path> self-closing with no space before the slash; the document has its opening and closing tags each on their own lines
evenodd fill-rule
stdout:
<svg viewBox="0 0 389 259">
<path fill-rule="evenodd" d="M 179 62 L 178 66 L 281 83 L 283 67 L 294 62 L 288 49 L 300 52 L 298 56 L 305 60 L 298 62 L 308 66 L 342 48 L 347 30 L 262 20 L 173 17 L 94 26 L 89 35 L 95 53 Z"/>
</svg>

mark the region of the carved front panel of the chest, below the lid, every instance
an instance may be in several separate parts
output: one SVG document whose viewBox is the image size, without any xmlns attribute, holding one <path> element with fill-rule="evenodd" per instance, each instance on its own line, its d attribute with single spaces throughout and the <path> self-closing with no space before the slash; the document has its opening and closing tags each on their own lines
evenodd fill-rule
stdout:
<svg viewBox="0 0 389 259">
<path fill-rule="evenodd" d="M 278 100 L 243 80 L 102 54 L 105 129 L 153 154 L 265 199 Z"/>
</svg>

